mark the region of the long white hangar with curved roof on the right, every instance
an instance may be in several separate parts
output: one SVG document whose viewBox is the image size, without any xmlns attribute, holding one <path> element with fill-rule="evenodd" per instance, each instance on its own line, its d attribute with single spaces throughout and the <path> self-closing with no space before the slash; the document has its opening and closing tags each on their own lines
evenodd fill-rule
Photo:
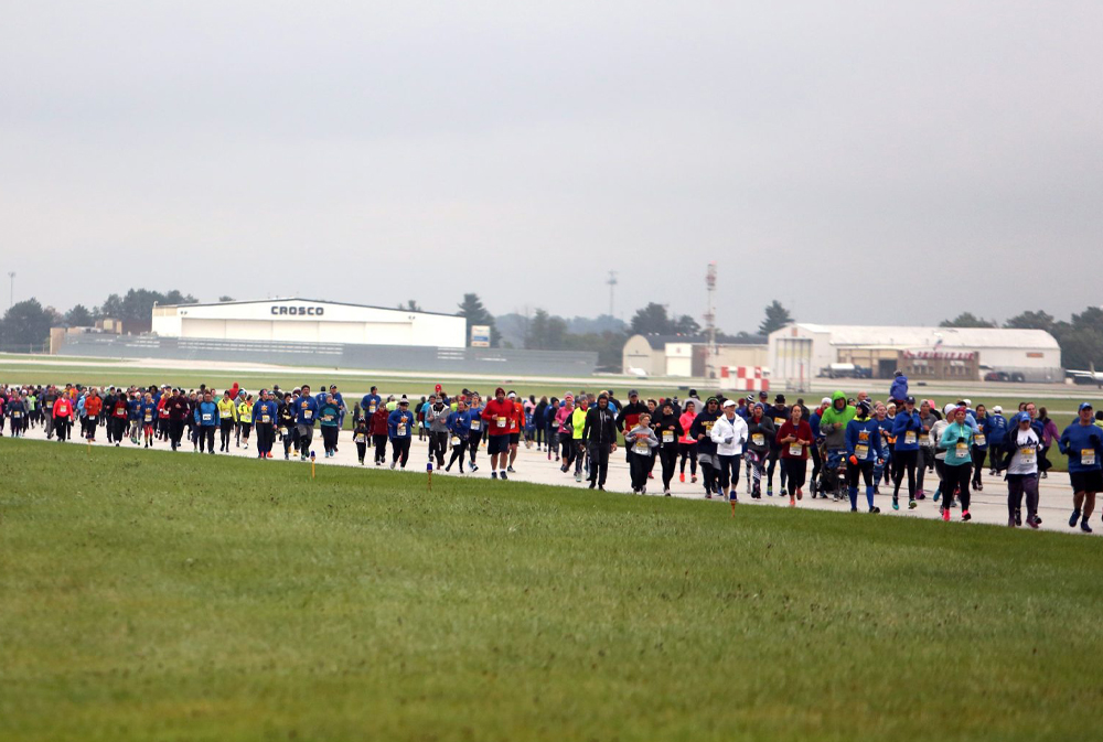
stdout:
<svg viewBox="0 0 1103 742">
<path fill-rule="evenodd" d="M 909 379 L 1061 381 L 1061 348 L 1043 330 L 879 327 L 797 322 L 770 333 L 773 378 L 856 375 Z"/>
</svg>

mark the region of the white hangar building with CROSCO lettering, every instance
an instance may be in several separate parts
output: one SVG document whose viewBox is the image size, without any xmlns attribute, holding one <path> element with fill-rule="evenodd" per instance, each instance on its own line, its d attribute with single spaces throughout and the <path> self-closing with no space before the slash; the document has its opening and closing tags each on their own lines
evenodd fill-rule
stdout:
<svg viewBox="0 0 1103 742">
<path fill-rule="evenodd" d="M 313 299 L 154 307 L 152 333 L 202 340 L 467 346 L 462 316 Z"/>
</svg>

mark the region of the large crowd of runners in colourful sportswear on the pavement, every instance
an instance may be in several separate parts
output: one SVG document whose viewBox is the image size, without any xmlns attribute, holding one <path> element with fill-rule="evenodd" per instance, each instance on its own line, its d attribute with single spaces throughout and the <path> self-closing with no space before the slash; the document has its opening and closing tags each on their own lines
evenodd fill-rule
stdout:
<svg viewBox="0 0 1103 742">
<path fill-rule="evenodd" d="M 1008 526 L 1032 528 L 1041 523 L 1038 480 L 1048 475 L 1056 443 L 1068 458 L 1073 491 L 1069 526 L 1092 530 L 1089 519 L 1103 490 L 1103 411 L 1094 412 L 1089 402 L 1060 430 L 1046 408 L 1032 402 L 1005 416 L 998 405 L 989 410 L 970 399 L 942 406 L 917 401 L 899 375 L 886 401 L 865 391 L 853 398 L 836 391 L 808 408 L 804 399 L 790 405 L 784 395 L 772 402 L 769 397 L 718 394 L 702 401 L 690 389 L 685 399 L 643 399 L 633 389 L 623 401 L 612 391 L 537 399 L 500 387 L 484 400 L 478 391 L 448 395 L 437 385 L 419 399 L 384 398 L 372 387 L 349 409 L 336 385 L 317 392 L 308 385 L 288 391 L 274 386 L 255 394 L 236 385 L 221 392 L 205 386 L 0 385 L 0 434 L 42 428 L 47 439 L 94 443 L 103 431 L 117 447 L 215 454 L 217 442 L 217 452 L 253 445 L 259 459 L 274 458 L 275 450 L 283 459 L 307 461 L 317 432 L 326 458 L 344 437 L 361 464 L 371 458 L 375 466 L 390 469 L 406 469 L 416 437 L 427 442 L 430 463 L 446 472 L 478 472 L 479 454 L 485 453 L 493 480 L 514 473 L 524 445 L 546 452 L 563 474 L 598 490 L 604 490 L 610 456 L 622 450 L 638 494 L 651 486 L 670 496 L 674 477 L 685 482 L 688 474 L 706 498 L 736 502 L 742 470 L 745 492 L 754 499 L 773 497 L 777 482 L 777 495 L 790 506 L 807 492 L 857 512 L 864 495 L 865 509 L 879 513 L 874 497 L 882 487 L 891 492 L 893 509 L 915 508 L 930 483 L 931 498 L 947 521 L 954 509 L 962 520 L 971 519 L 971 493 L 983 490 L 987 466 L 989 475 L 1005 475 Z"/>
</svg>

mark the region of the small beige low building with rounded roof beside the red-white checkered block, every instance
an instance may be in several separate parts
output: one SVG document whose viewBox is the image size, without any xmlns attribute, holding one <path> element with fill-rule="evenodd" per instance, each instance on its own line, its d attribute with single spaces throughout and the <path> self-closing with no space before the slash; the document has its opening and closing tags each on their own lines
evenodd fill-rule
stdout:
<svg viewBox="0 0 1103 742">
<path fill-rule="evenodd" d="M 706 377 L 719 375 L 728 366 L 767 365 L 764 337 L 716 344 L 716 357 L 709 362 L 708 341 L 698 335 L 632 335 L 624 343 L 621 362 L 625 374 L 644 376 Z M 711 372 L 709 370 L 711 368 Z"/>
</svg>

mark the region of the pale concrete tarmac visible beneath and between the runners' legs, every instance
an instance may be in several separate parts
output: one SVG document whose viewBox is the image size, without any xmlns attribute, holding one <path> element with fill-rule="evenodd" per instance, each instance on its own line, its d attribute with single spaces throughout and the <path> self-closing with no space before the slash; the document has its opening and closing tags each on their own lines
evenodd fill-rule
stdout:
<svg viewBox="0 0 1103 742">
<path fill-rule="evenodd" d="M 74 429 L 78 430 L 78 427 Z M 28 432 L 28 440 L 45 440 L 45 432 L 39 428 Z M 215 439 L 217 441 L 217 433 Z M 0 444 L 2 444 L 2 439 L 0 439 Z M 87 445 L 88 443 L 83 439 L 77 439 L 69 441 L 71 445 Z M 106 431 L 103 428 L 97 430 L 96 441 L 92 443 L 95 447 L 109 445 L 107 443 Z M 140 445 L 133 445 L 129 439 L 122 442 L 120 448 L 141 448 Z M 361 466 L 357 461 L 356 445 L 352 441 L 352 432 L 349 430 L 342 431 L 341 438 L 338 442 L 338 451 L 333 458 L 326 459 L 322 455 L 322 442 L 321 434 L 315 430 L 314 439 L 312 442 L 312 448 L 317 455 L 317 465 L 319 469 L 324 466 Z M 167 441 L 156 441 L 153 450 L 163 451 L 167 454 L 171 453 L 171 449 Z M 200 454 L 193 451 L 193 445 L 191 442 L 183 442 L 182 448 L 176 451 L 174 455 L 186 455 L 194 456 L 197 460 L 201 456 L 208 454 Z M 249 442 L 249 448 L 238 448 L 231 442 L 231 450 L 228 454 L 217 453 L 215 455 L 233 455 L 233 456 L 253 456 L 256 458 L 256 447 L 255 440 Z M 283 461 L 283 445 L 277 439 L 276 445 L 272 449 L 272 459 L 270 463 L 272 465 L 289 465 L 289 466 L 307 466 L 306 463 L 293 461 L 295 453 L 292 451 L 292 462 L 288 463 Z M 392 459 L 392 451 L 388 444 L 387 447 L 387 463 L 384 466 L 377 467 L 373 465 L 373 450 L 368 447 L 367 455 L 365 458 L 365 464 L 362 466 L 364 470 L 372 471 L 375 469 L 387 469 Z M 414 438 L 411 444 L 410 458 L 407 463 L 406 472 L 410 476 L 420 476 L 422 478 L 427 477 L 426 463 L 428 461 L 428 440 L 420 441 L 417 437 Z M 199 461 L 196 461 L 199 463 Z M 446 456 L 445 463 L 448 463 Z M 449 476 L 463 476 L 463 477 L 474 477 L 479 480 L 484 480 L 488 487 L 493 487 L 496 482 L 491 480 L 490 471 L 490 458 L 485 453 L 485 448 L 483 447 L 478 455 L 476 463 L 479 470 L 476 472 L 467 471 L 460 474 L 459 472 L 446 473 L 442 470 L 437 469 L 433 465 L 433 478 L 439 481 L 439 477 Z M 574 472 L 563 473 L 559 471 L 559 463 L 555 461 L 555 455 L 548 459 L 548 454 L 545 450 L 537 450 L 535 444 L 527 449 L 524 443 L 518 447 L 517 459 L 514 463 L 516 473 L 511 473 L 510 480 L 515 482 L 531 482 L 535 484 L 548 484 L 566 487 L 586 488 L 588 483 L 585 480 L 581 483 L 576 483 L 574 477 Z M 399 470 L 401 471 L 401 470 Z M 812 472 L 812 462 L 808 462 L 808 473 Z M 656 462 L 654 470 L 653 480 L 647 481 L 647 497 L 662 497 L 663 486 L 662 486 L 662 465 Z M 699 472 L 698 472 L 699 474 Z M 323 476 L 324 474 L 319 474 Z M 788 507 L 789 497 L 780 496 L 780 466 L 779 471 L 774 474 L 774 496 L 768 497 L 765 495 L 765 484 L 763 482 L 763 494 L 760 501 L 752 501 L 747 494 L 747 477 L 746 467 L 740 469 L 740 483 L 738 487 L 738 498 L 739 503 L 736 508 L 736 517 L 738 517 L 739 509 L 746 507 Z M 797 508 L 802 509 L 817 509 L 817 510 L 833 510 L 838 513 L 846 513 L 850 517 L 857 517 L 861 515 L 863 517 L 908 517 L 908 518 L 929 518 L 933 520 L 941 520 L 941 515 L 939 513 L 939 504 L 933 502 L 931 495 L 933 493 L 934 486 L 938 484 L 938 477 L 933 473 L 929 473 L 927 476 L 927 498 L 918 502 L 918 507 L 914 510 L 908 509 L 907 502 L 907 478 L 903 482 L 903 487 L 901 492 L 901 504 L 899 510 L 892 510 L 892 487 L 890 485 L 884 484 L 880 487 L 880 495 L 875 496 L 875 505 L 881 508 L 881 514 L 879 516 L 870 516 L 866 513 L 866 498 L 865 490 L 863 488 L 858 495 L 858 509 L 859 514 L 850 514 L 849 512 L 849 501 L 835 502 L 833 499 L 815 498 L 812 499 L 807 493 L 807 487 L 805 487 L 804 498 L 796 503 Z M 972 515 L 972 521 L 968 524 L 963 524 L 961 520 L 961 508 L 954 508 L 952 510 L 952 521 L 954 525 L 965 525 L 972 526 L 974 524 L 992 524 L 997 526 L 1007 527 L 1007 485 L 1003 482 L 1002 476 L 989 476 L 988 471 L 985 470 L 982 476 L 982 484 L 984 490 L 982 492 L 974 492 L 972 497 L 972 504 L 970 507 L 970 514 Z M 606 482 L 606 493 L 595 492 L 595 496 L 612 496 L 610 493 L 623 494 L 627 496 L 639 496 L 632 494 L 631 481 L 629 476 L 629 466 L 624 458 L 624 449 L 618 448 L 614 453 L 609 456 L 609 474 Z M 698 483 L 694 484 L 690 482 L 689 463 L 686 462 L 686 481 L 683 483 L 679 481 L 677 473 L 674 475 L 674 480 L 671 483 L 671 493 L 674 497 L 682 497 L 687 499 L 698 499 L 703 507 L 716 507 L 720 506 L 722 508 L 721 513 L 725 517 L 730 516 L 730 510 L 728 509 L 727 503 L 724 499 L 714 496 L 713 499 L 705 498 L 705 491 L 698 478 Z M 1069 527 L 1069 516 L 1072 513 L 1072 491 L 1069 486 L 1069 475 L 1064 472 L 1051 472 L 1048 478 L 1041 480 L 1039 487 L 1039 509 L 1038 514 L 1042 519 L 1041 530 L 1053 530 L 1063 534 L 1075 534 L 1082 535 L 1079 525 L 1075 528 Z M 1024 513 L 1025 517 L 1025 513 Z M 947 527 L 950 524 L 946 524 Z M 1095 513 L 1091 519 L 1091 527 L 1094 534 L 1103 534 L 1103 521 L 1101 521 L 1100 508 L 1096 507 Z M 1024 526 L 1022 529 L 1031 530 L 1030 528 Z"/>
</svg>

